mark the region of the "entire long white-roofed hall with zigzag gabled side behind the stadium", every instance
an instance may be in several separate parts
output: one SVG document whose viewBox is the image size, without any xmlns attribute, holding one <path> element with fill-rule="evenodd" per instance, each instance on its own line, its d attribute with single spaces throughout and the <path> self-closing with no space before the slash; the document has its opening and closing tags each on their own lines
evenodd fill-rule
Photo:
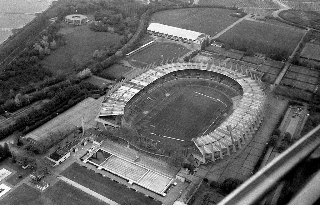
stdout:
<svg viewBox="0 0 320 205">
<path fill-rule="evenodd" d="M 187 29 L 177 28 L 160 23 L 151 23 L 147 28 L 147 33 L 189 44 L 201 44 L 204 40 L 209 39 L 210 37 L 210 35 L 206 35 L 200 32 L 190 31 Z"/>
</svg>

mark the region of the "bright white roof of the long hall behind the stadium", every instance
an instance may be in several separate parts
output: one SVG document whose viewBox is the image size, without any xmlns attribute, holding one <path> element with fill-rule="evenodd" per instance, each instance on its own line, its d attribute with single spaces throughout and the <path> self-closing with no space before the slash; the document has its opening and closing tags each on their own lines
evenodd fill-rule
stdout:
<svg viewBox="0 0 320 205">
<path fill-rule="evenodd" d="M 196 40 L 196 38 L 199 35 L 202 35 L 202 33 L 200 33 L 200 32 L 190 31 L 187 29 L 177 28 L 177 27 L 173 27 L 173 26 L 167 26 L 167 25 L 160 24 L 160 23 L 150 23 L 147 30 L 160 32 L 160 33 L 164 33 L 164 34 L 169 34 L 169 35 L 173 35 L 173 36 L 178 36 L 178 37 L 182 37 L 182 38 L 192 39 L 192 40 Z"/>
</svg>

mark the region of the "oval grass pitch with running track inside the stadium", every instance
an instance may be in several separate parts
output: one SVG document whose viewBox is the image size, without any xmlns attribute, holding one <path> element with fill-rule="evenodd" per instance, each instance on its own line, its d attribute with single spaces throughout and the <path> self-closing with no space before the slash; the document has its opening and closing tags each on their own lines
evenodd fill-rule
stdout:
<svg viewBox="0 0 320 205">
<path fill-rule="evenodd" d="M 175 89 L 168 91 L 170 95 L 164 101 L 159 100 L 156 105 L 151 105 L 152 108 L 146 107 L 144 110 L 151 108 L 150 112 L 136 122 L 143 135 L 150 136 L 152 132 L 188 141 L 200 137 L 207 130 L 214 130 L 219 126 L 217 121 L 229 112 L 231 103 L 219 91 L 202 86 L 181 86 L 179 89 L 178 85 L 172 86 Z"/>
</svg>

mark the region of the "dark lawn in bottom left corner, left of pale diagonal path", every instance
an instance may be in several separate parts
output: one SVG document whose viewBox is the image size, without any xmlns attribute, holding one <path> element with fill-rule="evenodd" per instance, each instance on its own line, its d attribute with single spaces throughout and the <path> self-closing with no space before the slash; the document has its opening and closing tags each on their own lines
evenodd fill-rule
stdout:
<svg viewBox="0 0 320 205">
<path fill-rule="evenodd" d="M 97 198 L 77 189 L 63 181 L 59 181 L 54 186 L 49 186 L 44 193 L 22 184 L 12 193 L 7 195 L 0 201 L 0 204 L 5 205 L 105 205 L 106 203 Z"/>
</svg>

